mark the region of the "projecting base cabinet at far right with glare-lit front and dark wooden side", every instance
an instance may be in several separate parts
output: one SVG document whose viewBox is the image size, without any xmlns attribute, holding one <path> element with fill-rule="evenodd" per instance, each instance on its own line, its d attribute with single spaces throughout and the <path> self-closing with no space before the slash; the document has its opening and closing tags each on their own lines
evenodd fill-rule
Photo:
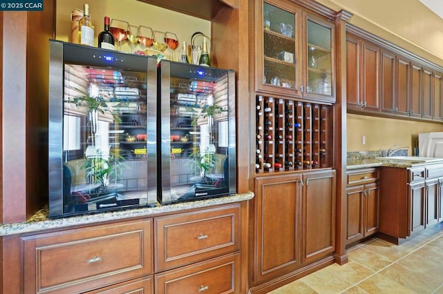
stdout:
<svg viewBox="0 0 443 294">
<path fill-rule="evenodd" d="M 443 165 L 381 168 L 380 232 L 399 243 L 443 222 Z"/>
</svg>

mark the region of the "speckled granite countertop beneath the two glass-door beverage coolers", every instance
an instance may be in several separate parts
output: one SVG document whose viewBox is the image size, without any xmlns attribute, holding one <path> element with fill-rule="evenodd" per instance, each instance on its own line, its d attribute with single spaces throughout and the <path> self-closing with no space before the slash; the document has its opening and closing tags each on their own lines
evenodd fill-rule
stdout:
<svg viewBox="0 0 443 294">
<path fill-rule="evenodd" d="M 219 204 L 229 204 L 252 199 L 254 193 L 235 194 L 226 197 L 205 199 L 192 202 L 181 202 L 177 204 L 159 205 L 156 207 L 133 208 L 127 210 L 116 210 L 107 213 L 96 213 L 91 215 L 78 215 L 73 217 L 63 217 L 50 219 L 48 208 L 42 208 L 26 222 L 15 224 L 0 224 L 0 236 L 15 235 L 21 233 L 37 232 L 51 228 L 66 228 L 81 224 L 99 224 L 111 220 L 125 220 L 130 217 L 151 217 L 161 213 L 172 213 L 180 210 L 193 208 L 204 208 Z"/>
</svg>

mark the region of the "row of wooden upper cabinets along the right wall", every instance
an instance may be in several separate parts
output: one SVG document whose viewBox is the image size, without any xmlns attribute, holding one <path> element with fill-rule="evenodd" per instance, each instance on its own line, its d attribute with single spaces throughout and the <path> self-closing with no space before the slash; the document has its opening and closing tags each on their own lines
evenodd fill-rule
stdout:
<svg viewBox="0 0 443 294">
<path fill-rule="evenodd" d="M 347 110 L 443 121 L 442 68 L 356 28 L 346 60 Z"/>
</svg>

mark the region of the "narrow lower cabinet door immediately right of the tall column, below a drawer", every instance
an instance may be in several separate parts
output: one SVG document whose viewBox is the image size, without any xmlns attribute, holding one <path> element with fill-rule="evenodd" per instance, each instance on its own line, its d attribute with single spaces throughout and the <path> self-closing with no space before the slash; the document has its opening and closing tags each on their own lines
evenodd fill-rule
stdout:
<svg viewBox="0 0 443 294">
<path fill-rule="evenodd" d="M 350 244 L 363 238 L 363 186 L 347 188 L 346 195 L 346 244 Z"/>
</svg>

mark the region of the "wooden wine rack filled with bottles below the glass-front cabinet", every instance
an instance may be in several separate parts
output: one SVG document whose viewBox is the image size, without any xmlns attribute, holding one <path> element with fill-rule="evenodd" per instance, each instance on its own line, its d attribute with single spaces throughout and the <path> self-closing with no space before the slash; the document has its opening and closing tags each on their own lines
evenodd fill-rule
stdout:
<svg viewBox="0 0 443 294">
<path fill-rule="evenodd" d="M 333 166 L 332 106 L 256 97 L 255 172 Z"/>
</svg>

